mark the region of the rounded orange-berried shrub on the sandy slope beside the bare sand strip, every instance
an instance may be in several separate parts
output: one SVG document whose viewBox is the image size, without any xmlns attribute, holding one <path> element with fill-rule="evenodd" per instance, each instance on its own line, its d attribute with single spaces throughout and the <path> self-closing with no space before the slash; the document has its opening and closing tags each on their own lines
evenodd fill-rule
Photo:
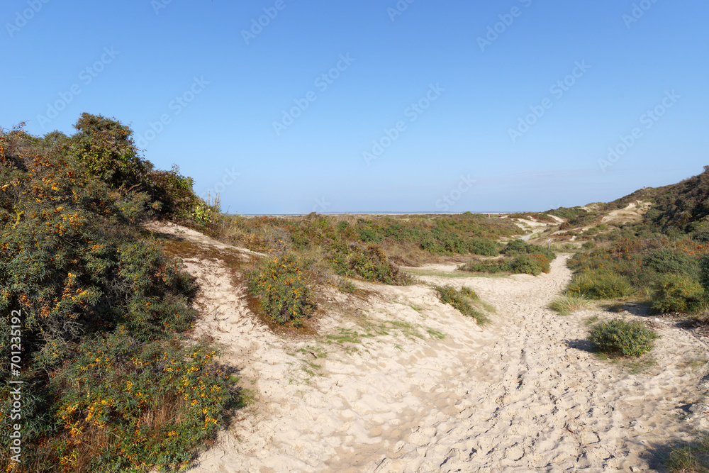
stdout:
<svg viewBox="0 0 709 473">
<path fill-rule="evenodd" d="M 301 325 L 302 318 L 311 316 L 316 309 L 312 291 L 291 253 L 265 257 L 245 277 L 250 293 L 274 322 Z"/>
</svg>

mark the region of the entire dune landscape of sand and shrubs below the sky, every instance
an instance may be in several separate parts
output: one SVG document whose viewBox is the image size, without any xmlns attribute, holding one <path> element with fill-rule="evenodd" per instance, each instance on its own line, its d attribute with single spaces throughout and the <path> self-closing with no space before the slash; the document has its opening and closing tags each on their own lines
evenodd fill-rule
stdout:
<svg viewBox="0 0 709 473">
<path fill-rule="evenodd" d="M 544 213 L 248 218 L 121 123 L 76 128 L 0 133 L 7 471 L 707 466 L 708 172 Z"/>
</svg>

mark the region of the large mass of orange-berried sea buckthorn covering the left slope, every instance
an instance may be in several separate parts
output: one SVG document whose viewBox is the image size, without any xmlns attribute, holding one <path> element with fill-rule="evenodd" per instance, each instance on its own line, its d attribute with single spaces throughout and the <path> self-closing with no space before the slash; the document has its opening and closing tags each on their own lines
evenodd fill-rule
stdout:
<svg viewBox="0 0 709 473">
<path fill-rule="evenodd" d="M 0 130 L 0 343 L 22 327 L 23 462 L 14 472 L 182 467 L 237 396 L 208 344 L 184 341 L 194 280 L 136 224 L 155 201 L 130 130 L 84 115 L 77 135 Z M 0 359 L 8 379 L 9 358 Z M 9 384 L 0 429 L 9 431 Z"/>
</svg>

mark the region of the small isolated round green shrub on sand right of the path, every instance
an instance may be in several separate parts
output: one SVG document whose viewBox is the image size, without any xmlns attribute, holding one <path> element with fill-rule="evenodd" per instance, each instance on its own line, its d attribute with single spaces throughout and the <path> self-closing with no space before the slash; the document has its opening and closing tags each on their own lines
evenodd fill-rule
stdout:
<svg viewBox="0 0 709 473">
<path fill-rule="evenodd" d="M 638 357 L 652 349 L 657 333 L 640 321 L 626 322 L 622 319 L 593 325 L 588 340 L 596 349 L 609 355 Z"/>
</svg>

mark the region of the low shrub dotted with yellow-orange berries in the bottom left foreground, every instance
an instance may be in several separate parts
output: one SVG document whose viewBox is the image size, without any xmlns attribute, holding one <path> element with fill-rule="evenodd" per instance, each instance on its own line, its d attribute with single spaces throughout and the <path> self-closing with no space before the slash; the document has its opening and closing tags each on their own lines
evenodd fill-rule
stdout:
<svg viewBox="0 0 709 473">
<path fill-rule="evenodd" d="M 215 355 L 208 345 L 138 343 L 123 329 L 86 340 L 50 382 L 68 435 L 35 455 L 72 472 L 186 464 L 236 400 Z"/>
</svg>

